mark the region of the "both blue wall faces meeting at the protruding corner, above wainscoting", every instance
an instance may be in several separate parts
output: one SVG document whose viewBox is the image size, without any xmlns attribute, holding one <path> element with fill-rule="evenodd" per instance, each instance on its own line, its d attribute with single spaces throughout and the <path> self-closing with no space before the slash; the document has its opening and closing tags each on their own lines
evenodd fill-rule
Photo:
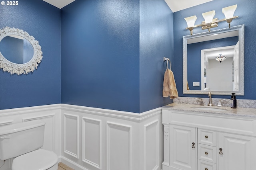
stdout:
<svg viewBox="0 0 256 170">
<path fill-rule="evenodd" d="M 172 12 L 157 2 L 76 0 L 62 8 L 62 103 L 141 113 L 172 102 L 162 98 Z"/>
</svg>

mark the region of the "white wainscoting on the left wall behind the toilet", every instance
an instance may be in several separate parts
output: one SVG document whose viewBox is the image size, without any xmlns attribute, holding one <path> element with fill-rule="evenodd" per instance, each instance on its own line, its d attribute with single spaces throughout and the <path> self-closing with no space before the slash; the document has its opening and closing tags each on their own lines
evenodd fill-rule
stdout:
<svg viewBox="0 0 256 170">
<path fill-rule="evenodd" d="M 61 155 L 60 147 L 60 104 L 46 105 L 46 106 L 34 106 L 34 107 L 22 107 L 15 109 L 0 110 L 0 126 L 10 125 L 14 123 L 20 123 L 24 121 L 30 121 L 40 119 L 45 122 L 44 129 L 44 145 L 43 149 L 54 151 L 59 156 Z M 0 160 L 0 166 L 4 162 Z M 12 159 L 6 160 L 6 163 L 1 168 L 7 170 L 11 168 Z"/>
</svg>

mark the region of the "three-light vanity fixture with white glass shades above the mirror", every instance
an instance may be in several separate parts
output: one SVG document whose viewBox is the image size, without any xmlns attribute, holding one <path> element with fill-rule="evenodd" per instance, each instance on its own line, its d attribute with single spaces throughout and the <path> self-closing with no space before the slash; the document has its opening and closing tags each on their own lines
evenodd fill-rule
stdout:
<svg viewBox="0 0 256 170">
<path fill-rule="evenodd" d="M 214 18 L 215 16 L 214 10 L 202 13 L 202 16 L 204 17 L 204 21 L 202 21 L 202 24 L 199 24 L 199 25 L 194 25 L 197 19 L 196 16 L 184 18 L 188 25 L 186 29 L 190 30 L 190 35 L 193 35 L 193 29 L 196 27 L 202 27 L 202 29 L 208 29 L 208 31 L 210 32 L 210 28 L 218 27 L 218 23 L 222 21 L 226 21 L 228 23 L 228 27 L 230 28 L 231 21 L 235 18 L 238 18 L 238 16 L 233 16 L 236 10 L 236 7 L 237 7 L 237 4 L 228 6 L 226 8 L 222 8 L 222 12 L 225 15 L 225 18 L 222 20 L 218 20 L 218 18 Z"/>
</svg>

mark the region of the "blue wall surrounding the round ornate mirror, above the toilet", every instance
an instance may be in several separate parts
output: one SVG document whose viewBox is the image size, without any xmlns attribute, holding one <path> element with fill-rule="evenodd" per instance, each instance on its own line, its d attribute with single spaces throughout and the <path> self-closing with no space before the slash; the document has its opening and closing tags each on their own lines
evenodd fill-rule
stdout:
<svg viewBox="0 0 256 170">
<path fill-rule="evenodd" d="M 23 29 L 42 47 L 38 70 L 11 75 L 0 70 L 0 109 L 58 104 L 60 94 L 60 9 L 42 0 L 0 6 L 0 28 Z"/>
</svg>

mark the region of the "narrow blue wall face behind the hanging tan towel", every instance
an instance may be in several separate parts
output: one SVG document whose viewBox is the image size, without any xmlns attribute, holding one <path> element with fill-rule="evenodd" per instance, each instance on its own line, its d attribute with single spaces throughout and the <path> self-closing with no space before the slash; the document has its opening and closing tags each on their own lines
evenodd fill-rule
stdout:
<svg viewBox="0 0 256 170">
<path fill-rule="evenodd" d="M 172 103 L 162 97 L 163 57 L 173 61 L 173 13 L 164 0 L 140 0 L 140 113 Z"/>
</svg>

